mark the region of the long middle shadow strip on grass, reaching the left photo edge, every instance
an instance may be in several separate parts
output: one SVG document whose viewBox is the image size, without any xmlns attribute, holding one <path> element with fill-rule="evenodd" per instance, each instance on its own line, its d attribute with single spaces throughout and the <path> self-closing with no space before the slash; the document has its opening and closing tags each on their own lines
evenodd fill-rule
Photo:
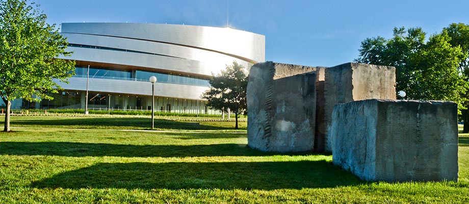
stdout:
<svg viewBox="0 0 469 204">
<path fill-rule="evenodd" d="M 0 155 L 50 155 L 65 157 L 214 157 L 266 156 L 274 153 L 248 148 L 245 144 L 123 145 L 74 142 L 2 142 Z"/>
</svg>

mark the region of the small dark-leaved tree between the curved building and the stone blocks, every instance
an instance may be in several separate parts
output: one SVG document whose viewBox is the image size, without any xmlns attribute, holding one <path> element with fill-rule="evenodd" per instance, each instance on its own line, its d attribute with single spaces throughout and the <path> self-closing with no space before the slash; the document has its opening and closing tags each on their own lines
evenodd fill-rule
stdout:
<svg viewBox="0 0 469 204">
<path fill-rule="evenodd" d="M 207 105 L 222 112 L 228 112 L 228 109 L 233 111 L 236 118 L 235 129 L 238 129 L 238 117 L 247 108 L 248 77 L 244 67 L 233 62 L 233 65 L 226 66 L 218 75 L 213 75 L 209 83 L 210 90 L 203 94 L 203 98 L 209 101 Z"/>
</svg>

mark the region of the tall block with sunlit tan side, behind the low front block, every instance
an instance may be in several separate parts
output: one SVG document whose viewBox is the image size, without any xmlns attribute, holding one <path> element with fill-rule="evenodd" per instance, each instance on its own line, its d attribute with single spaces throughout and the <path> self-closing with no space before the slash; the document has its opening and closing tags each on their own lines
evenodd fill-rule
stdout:
<svg viewBox="0 0 469 204">
<path fill-rule="evenodd" d="M 396 68 L 369 64 L 346 63 L 324 71 L 324 106 L 317 119 L 318 149 L 331 151 L 327 138 L 334 105 L 371 98 L 396 99 Z M 320 100 L 319 100 L 320 101 Z M 321 103 L 321 102 L 320 102 Z M 322 110 L 323 109 L 323 110 Z"/>
</svg>

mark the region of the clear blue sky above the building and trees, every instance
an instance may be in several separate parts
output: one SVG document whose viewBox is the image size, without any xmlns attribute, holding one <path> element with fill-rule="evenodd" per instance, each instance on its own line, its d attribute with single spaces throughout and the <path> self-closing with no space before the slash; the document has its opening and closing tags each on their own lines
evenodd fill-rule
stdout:
<svg viewBox="0 0 469 204">
<path fill-rule="evenodd" d="M 358 57 L 363 39 L 389 38 L 394 27 L 421 27 L 429 36 L 452 22 L 469 23 L 467 0 L 34 2 L 47 14 L 48 23 L 56 24 L 139 22 L 226 27 L 228 22 L 231 28 L 265 35 L 267 61 L 306 66 L 351 62 Z"/>
</svg>

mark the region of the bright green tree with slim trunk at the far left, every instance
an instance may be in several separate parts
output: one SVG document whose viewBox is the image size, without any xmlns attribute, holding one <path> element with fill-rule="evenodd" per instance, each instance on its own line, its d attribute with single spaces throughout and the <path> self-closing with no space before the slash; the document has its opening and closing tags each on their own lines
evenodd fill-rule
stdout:
<svg viewBox="0 0 469 204">
<path fill-rule="evenodd" d="M 55 24 L 45 22 L 46 15 L 34 3 L 25 0 L 0 2 L 0 96 L 6 104 L 5 132 L 10 131 L 11 100 L 52 99 L 67 83 L 74 69 L 73 61 L 58 59 L 65 52 L 66 38 Z"/>
</svg>

